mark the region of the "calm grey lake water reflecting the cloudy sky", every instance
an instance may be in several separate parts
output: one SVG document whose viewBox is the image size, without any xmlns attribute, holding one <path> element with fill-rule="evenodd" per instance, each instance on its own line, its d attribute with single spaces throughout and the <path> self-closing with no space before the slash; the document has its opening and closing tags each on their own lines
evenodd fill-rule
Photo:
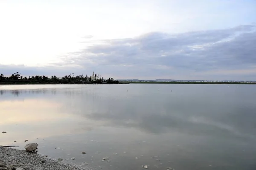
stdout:
<svg viewBox="0 0 256 170">
<path fill-rule="evenodd" d="M 0 131 L 93 169 L 255 170 L 256 85 L 1 86 Z"/>
</svg>

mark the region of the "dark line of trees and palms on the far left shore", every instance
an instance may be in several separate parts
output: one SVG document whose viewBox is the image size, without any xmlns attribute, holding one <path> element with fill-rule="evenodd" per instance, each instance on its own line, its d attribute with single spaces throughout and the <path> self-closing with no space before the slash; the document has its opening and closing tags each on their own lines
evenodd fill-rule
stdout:
<svg viewBox="0 0 256 170">
<path fill-rule="evenodd" d="M 74 73 L 65 75 L 64 77 L 56 76 L 29 76 L 23 77 L 19 72 L 12 74 L 10 77 L 5 77 L 0 74 L 0 84 L 118 84 L 117 80 L 109 77 L 103 79 L 99 74 L 93 77 L 88 77 L 87 74 L 74 76 Z"/>
</svg>

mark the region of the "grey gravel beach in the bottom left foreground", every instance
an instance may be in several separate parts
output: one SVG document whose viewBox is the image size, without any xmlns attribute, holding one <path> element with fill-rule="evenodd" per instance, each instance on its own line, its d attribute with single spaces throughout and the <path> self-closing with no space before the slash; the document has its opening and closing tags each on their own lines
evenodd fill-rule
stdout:
<svg viewBox="0 0 256 170">
<path fill-rule="evenodd" d="M 0 170 L 90 170 L 62 161 L 55 161 L 37 153 L 0 147 Z"/>
</svg>

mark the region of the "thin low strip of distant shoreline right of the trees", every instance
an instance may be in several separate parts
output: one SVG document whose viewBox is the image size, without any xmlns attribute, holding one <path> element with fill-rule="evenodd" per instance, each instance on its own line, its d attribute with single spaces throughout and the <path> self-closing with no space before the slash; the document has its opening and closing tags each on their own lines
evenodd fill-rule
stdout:
<svg viewBox="0 0 256 170">
<path fill-rule="evenodd" d="M 122 82 L 119 82 L 122 83 Z M 235 84 L 235 85 L 256 85 L 256 82 L 128 82 L 130 84 Z"/>
</svg>

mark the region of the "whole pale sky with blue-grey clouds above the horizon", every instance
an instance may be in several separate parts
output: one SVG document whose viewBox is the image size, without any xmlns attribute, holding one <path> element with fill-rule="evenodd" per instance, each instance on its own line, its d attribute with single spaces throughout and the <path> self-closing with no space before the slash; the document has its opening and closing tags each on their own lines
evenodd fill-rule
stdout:
<svg viewBox="0 0 256 170">
<path fill-rule="evenodd" d="M 256 0 L 0 0 L 0 73 L 256 80 Z"/>
</svg>

